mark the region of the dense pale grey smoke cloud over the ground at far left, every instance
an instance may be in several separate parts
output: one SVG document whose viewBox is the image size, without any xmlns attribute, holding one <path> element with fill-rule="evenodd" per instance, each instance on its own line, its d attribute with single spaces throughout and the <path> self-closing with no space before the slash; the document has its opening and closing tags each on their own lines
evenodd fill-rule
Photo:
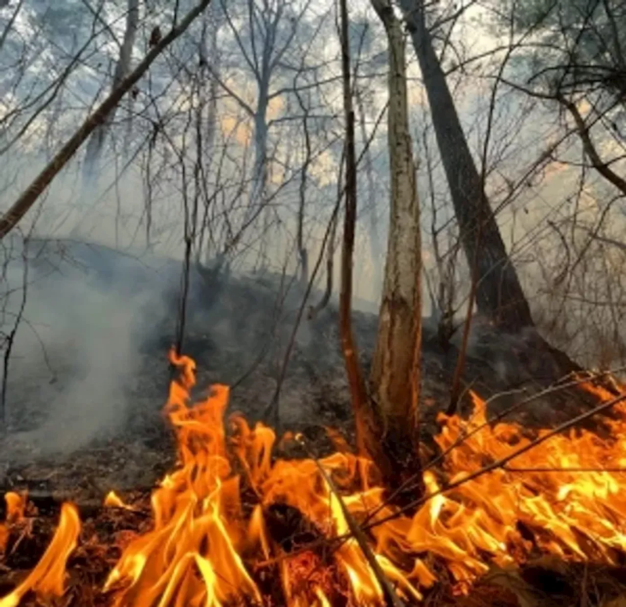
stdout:
<svg viewBox="0 0 626 607">
<path fill-rule="evenodd" d="M 106 248 L 42 245 L 31 243 L 28 260 L 15 258 L 7 272 L 4 332 L 19 311 L 28 263 L 6 416 L 14 441 L 51 454 L 106 440 L 123 426 L 147 327 L 143 314 L 150 304 L 155 321 L 165 315 L 171 281 Z"/>
</svg>

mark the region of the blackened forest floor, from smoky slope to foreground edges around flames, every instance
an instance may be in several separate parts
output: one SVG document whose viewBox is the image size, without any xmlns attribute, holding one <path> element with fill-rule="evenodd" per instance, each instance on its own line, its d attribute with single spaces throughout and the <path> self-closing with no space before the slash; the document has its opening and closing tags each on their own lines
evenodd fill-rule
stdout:
<svg viewBox="0 0 626 607">
<path fill-rule="evenodd" d="M 63 604 L 108 604 L 108 597 L 96 590 L 119 558 L 125 534 L 150 528 L 146 516 L 149 490 L 173 464 L 172 437 L 161 410 L 170 379 L 167 350 L 176 330 L 178 266 L 176 271 L 166 268 L 155 282 L 152 275 L 146 278 L 136 268 L 130 277 L 120 275 L 109 253 L 100 253 L 89 260 L 100 267 L 95 273 L 80 274 L 80 288 L 71 272 L 55 271 L 50 285 L 40 285 L 30 293 L 46 309 L 54 308 L 55 330 L 42 338 L 47 360 L 42 360 L 41 353 L 36 357 L 32 350 L 18 349 L 9 375 L 8 432 L 0 438 L 0 492 L 27 488 L 36 510 L 26 519 L 33 529 L 29 533 L 14 529 L 9 538 L 10 549 L 0 563 L 0 596 L 38 562 L 57 524 L 60 502 L 73 499 L 80 506 L 83 530 L 68 561 Z M 108 262 L 104 268 L 102 258 Z M 198 281 L 197 275 L 192 279 L 183 351 L 197 361 L 198 392 L 213 382 L 231 385 L 229 411 L 243 412 L 250 422 L 265 418 L 299 307 L 300 295 L 294 289 L 287 290 L 284 305 L 277 307 L 284 287 L 280 277 L 272 275 L 213 277 L 208 283 Z M 148 297 L 137 302 L 129 295 L 136 291 L 147 292 Z M 111 292 L 115 293 L 112 299 L 106 295 Z M 314 293 L 312 300 L 318 297 Z M 90 302 L 86 312 L 85 300 Z M 133 313 L 120 320 L 120 306 Z M 37 311 L 37 307 L 31 310 Z M 111 316 L 118 325 L 109 322 Z M 377 319 L 356 311 L 353 322 L 367 371 Z M 100 329 L 92 331 L 91 325 L 98 324 Z M 63 330 L 58 330 L 61 325 Z M 424 322 L 421 399 L 426 435 L 437 431 L 436 415 L 448 404 L 458 341 L 456 335 L 444 349 L 436 328 Z M 130 349 L 123 347 L 125 343 Z M 501 394 L 490 402 L 491 416 L 562 375 L 553 356 L 531 332 L 506 335 L 476 319 L 469 346 L 464 387 L 485 399 Z M 113 380 L 115 386 L 108 385 Z M 63 408 L 68 402 L 74 404 L 70 414 Z M 559 390 L 518 408 L 509 419 L 532 431 L 533 427 L 555 426 L 593 404 L 582 392 Z M 461 409 L 462 414 L 468 413 L 466 404 Z M 55 411 L 63 414 L 59 417 Z M 102 411 L 110 415 L 101 416 Z M 97 432 L 80 434 L 81 428 L 88 427 L 76 423 L 85 421 L 83 417 L 106 423 L 96 424 Z M 324 426 L 336 427 L 351 439 L 349 392 L 335 307 L 312 322 L 304 320 L 297 332 L 280 390 L 280 417 L 285 429 L 310 437 L 319 454 L 332 449 Z M 101 508 L 101 499 L 110 489 L 123 492 L 128 501 L 141 507 L 140 512 Z M 0 503 L 0 519 L 3 506 Z M 552 561 L 541 558 L 515 571 L 492 568 L 469 596 L 454 593 L 442 571 L 441 583 L 429 591 L 424 604 L 573 606 L 610 604 L 598 597 L 608 601 L 623 596 L 623 567 Z M 270 580 L 278 574 L 269 573 Z"/>
</svg>

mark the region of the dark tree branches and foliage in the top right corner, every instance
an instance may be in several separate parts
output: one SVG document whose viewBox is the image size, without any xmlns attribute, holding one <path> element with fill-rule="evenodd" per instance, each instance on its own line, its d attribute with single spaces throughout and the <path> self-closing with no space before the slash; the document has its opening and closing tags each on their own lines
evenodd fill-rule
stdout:
<svg viewBox="0 0 626 607">
<path fill-rule="evenodd" d="M 535 34 L 537 42 L 518 53 L 518 82 L 510 84 L 559 103 L 573 119 L 590 166 L 626 194 L 626 180 L 615 171 L 621 152 L 602 158 L 602 147 L 595 143 L 603 141 L 610 149 L 613 140 L 617 150 L 623 148 L 626 5 L 619 0 L 505 0 L 504 4 L 506 19 L 523 35 Z M 546 53 L 545 48 L 554 50 Z"/>
</svg>

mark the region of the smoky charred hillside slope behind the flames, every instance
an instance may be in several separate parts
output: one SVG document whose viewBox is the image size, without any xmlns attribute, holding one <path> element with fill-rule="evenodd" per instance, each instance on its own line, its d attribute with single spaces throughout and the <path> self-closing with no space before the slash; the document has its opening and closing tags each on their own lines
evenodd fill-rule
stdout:
<svg viewBox="0 0 626 607">
<path fill-rule="evenodd" d="M 0 486 L 26 482 L 34 490 L 96 494 L 111 486 L 151 486 L 172 457 L 160 410 L 170 380 L 167 351 L 177 326 L 180 265 L 75 243 L 66 243 L 62 255 L 58 245 L 47 246 L 37 258 L 25 318 L 39 335 L 34 340 L 27 325 L 18 334 Z M 191 277 L 183 352 L 197 362 L 199 387 L 230 385 L 230 411 L 264 419 L 301 303 L 295 281 L 222 274 L 207 282 L 195 270 Z M 314 292 L 312 301 L 319 296 Z M 355 311 L 353 320 L 367 370 L 377 318 Z M 427 434 L 436 432 L 436 414 L 448 406 L 458 340 L 455 335 L 444 349 L 436 327 L 424 321 Z M 501 334 L 481 319 L 475 319 L 468 354 L 465 387 L 484 399 L 506 392 L 490 403 L 493 412 L 561 375 L 536 335 Z M 335 307 L 312 322 L 302 320 L 279 402 L 284 429 L 305 432 L 322 451 L 330 448 L 324 426 L 350 438 Z M 587 404 L 580 394 L 561 390 L 521 407 L 515 419 L 550 426 Z"/>
</svg>

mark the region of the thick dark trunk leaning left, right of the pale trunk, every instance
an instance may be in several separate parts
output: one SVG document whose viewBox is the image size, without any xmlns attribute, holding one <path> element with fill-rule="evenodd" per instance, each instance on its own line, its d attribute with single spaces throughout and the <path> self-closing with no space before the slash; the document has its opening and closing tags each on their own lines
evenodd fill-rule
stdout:
<svg viewBox="0 0 626 607">
<path fill-rule="evenodd" d="M 496 218 L 469 151 L 454 101 L 426 26 L 424 0 L 399 0 L 418 56 L 433 125 L 469 265 L 478 248 L 478 311 L 508 330 L 533 326 L 530 307 L 506 252 Z M 481 239 L 477 247 L 479 217 Z"/>
</svg>

